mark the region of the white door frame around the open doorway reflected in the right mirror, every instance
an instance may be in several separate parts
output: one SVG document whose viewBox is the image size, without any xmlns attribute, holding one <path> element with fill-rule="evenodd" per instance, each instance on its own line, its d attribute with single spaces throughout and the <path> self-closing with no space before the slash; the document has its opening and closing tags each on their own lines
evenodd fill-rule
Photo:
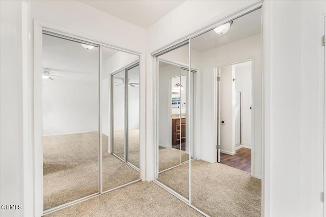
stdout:
<svg viewBox="0 0 326 217">
<path fill-rule="evenodd" d="M 213 105 L 213 108 L 212 108 L 212 115 L 213 115 L 213 121 L 212 121 L 212 138 L 211 138 L 211 141 L 212 141 L 212 144 L 211 144 L 211 151 L 212 152 L 216 152 L 219 156 L 219 160 L 220 160 L 220 153 L 221 153 L 221 144 L 220 144 L 220 150 L 217 150 L 216 148 L 216 145 L 218 144 L 218 138 L 219 140 L 221 140 L 221 135 L 219 135 L 219 120 L 218 120 L 218 112 L 219 109 L 218 109 L 218 96 L 219 96 L 219 82 L 218 81 L 218 77 L 219 77 L 219 69 L 220 68 L 223 68 L 223 67 L 226 67 L 226 66 L 231 66 L 231 65 L 235 65 L 235 64 L 240 64 L 240 63 L 244 63 L 244 62 L 247 62 L 247 61 L 251 61 L 251 82 L 253 83 L 254 81 L 254 75 L 255 75 L 255 63 L 254 63 L 254 57 L 251 57 L 251 58 L 246 58 L 246 59 L 243 59 L 243 60 L 239 60 L 239 61 L 234 61 L 232 63 L 227 63 L 227 64 L 223 64 L 223 65 L 219 65 L 219 66 L 216 66 L 214 67 L 213 69 L 213 77 L 212 77 L 212 80 L 214 81 L 213 83 L 213 94 L 212 94 L 212 105 Z M 255 102 L 255 95 L 254 95 L 254 91 L 253 91 L 253 87 L 255 85 L 252 85 L 251 86 L 251 98 L 252 98 L 252 105 L 254 105 L 254 102 Z M 242 102 L 241 102 L 242 103 Z M 254 176 L 254 163 L 255 163 L 255 158 L 254 158 L 254 150 L 255 150 L 255 131 L 253 129 L 255 129 L 255 115 L 253 115 L 255 113 L 255 110 L 254 110 L 254 107 L 252 107 L 252 111 L 251 111 L 251 176 Z M 241 119 L 242 119 L 242 111 L 241 111 Z M 241 120 L 241 127 L 242 127 L 242 120 Z M 242 137 L 242 135 L 241 135 Z M 241 141 L 242 141 L 242 138 L 241 138 Z M 217 158 L 215 160 L 215 162 L 217 162 Z"/>
</svg>

